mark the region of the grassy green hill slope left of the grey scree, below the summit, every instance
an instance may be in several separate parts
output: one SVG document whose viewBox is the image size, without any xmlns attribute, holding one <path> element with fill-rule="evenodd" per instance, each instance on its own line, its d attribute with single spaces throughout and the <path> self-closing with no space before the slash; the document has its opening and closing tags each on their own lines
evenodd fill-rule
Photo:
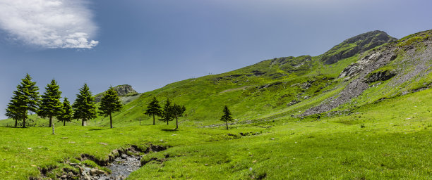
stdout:
<svg viewBox="0 0 432 180">
<path fill-rule="evenodd" d="M 345 51 L 352 46 L 344 41 L 328 52 Z M 140 121 L 152 121 L 152 117 L 144 115 L 144 112 L 153 96 L 161 103 L 169 98 L 174 103 L 186 106 L 185 117 L 180 118 L 182 126 L 218 124 L 224 105 L 229 106 L 237 122 L 270 117 L 277 113 L 282 113 L 279 116 L 296 114 L 294 112 L 318 105 L 325 100 L 322 97 L 328 98 L 339 92 L 340 87 L 345 85 L 337 79 L 340 72 L 362 56 L 366 55 L 356 54 L 332 65 L 323 64 L 323 55 L 273 58 L 220 75 L 185 79 L 138 96 L 124 96 L 124 109 L 113 114 L 114 127 L 136 126 Z M 422 81 L 425 79 L 420 78 L 416 82 Z M 384 97 L 377 94 L 373 99 Z M 292 101 L 301 103 L 288 105 Z M 47 124 L 46 120 L 35 119 L 38 120 L 38 126 Z M 13 122 L 0 122 L 0 125 L 7 124 Z M 109 120 L 107 117 L 97 117 L 88 124 L 108 127 Z"/>
</svg>

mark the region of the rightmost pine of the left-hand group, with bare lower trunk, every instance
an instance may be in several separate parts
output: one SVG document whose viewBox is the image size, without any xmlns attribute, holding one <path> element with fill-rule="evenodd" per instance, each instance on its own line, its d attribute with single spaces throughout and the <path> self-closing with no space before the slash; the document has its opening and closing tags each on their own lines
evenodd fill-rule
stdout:
<svg viewBox="0 0 432 180">
<path fill-rule="evenodd" d="M 104 96 L 100 101 L 100 115 L 109 115 L 109 125 L 112 128 L 112 113 L 119 112 L 121 110 L 121 101 L 119 96 L 117 96 L 117 91 L 114 90 L 112 86 L 109 86 L 109 89 L 105 91 Z"/>
</svg>

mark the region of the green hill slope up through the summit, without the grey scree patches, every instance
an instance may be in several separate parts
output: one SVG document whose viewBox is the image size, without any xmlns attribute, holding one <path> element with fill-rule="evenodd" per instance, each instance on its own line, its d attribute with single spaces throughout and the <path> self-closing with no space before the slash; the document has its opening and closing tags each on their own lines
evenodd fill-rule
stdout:
<svg viewBox="0 0 432 180">
<path fill-rule="evenodd" d="M 414 34 L 400 41 L 394 41 L 395 39 L 385 34 L 385 32 L 367 32 L 347 39 L 321 56 L 274 58 L 220 75 L 208 75 L 175 82 L 161 89 L 141 94 L 138 99 L 126 104 L 121 113 L 116 113 L 114 119 L 120 122 L 119 126 L 139 124 L 139 120 L 150 122 L 150 117 L 143 115 L 143 112 L 153 96 L 156 96 L 160 101 L 169 98 L 175 103 L 185 105 L 187 108 L 186 117 L 181 117 L 181 123 L 184 126 L 199 127 L 219 124 L 218 119 L 222 115 L 224 105 L 230 107 L 236 122 L 273 116 L 300 115 L 305 110 L 328 101 L 329 98 L 338 96 L 346 89 L 346 86 L 349 86 L 353 79 L 358 77 L 354 76 L 349 80 L 346 77 L 340 77 L 345 68 L 352 65 L 352 63 L 360 62 L 373 53 L 382 51 L 397 51 L 398 58 L 392 60 L 388 65 L 381 65 L 383 67 L 373 66 L 374 68 L 381 68 L 380 70 L 383 68 L 393 70 L 396 68 L 394 64 L 398 64 L 397 62 L 400 61 L 403 61 L 405 67 L 408 68 L 414 67 L 416 63 L 426 62 L 426 67 L 429 69 L 421 72 L 421 75 L 419 72 L 415 73 L 420 76 L 419 78 L 408 78 L 402 81 L 412 84 L 410 86 L 418 89 L 424 86 L 419 84 L 420 82 L 431 82 L 431 59 L 426 57 L 430 54 L 428 50 L 430 46 L 420 48 L 415 45 L 429 41 L 427 37 L 423 39 L 418 37 L 427 36 L 425 34 L 431 34 L 431 32 L 422 33 L 423 35 Z M 411 40 L 413 38 L 416 40 Z M 411 44 L 408 45 L 404 43 L 405 41 L 409 41 Z M 409 49 L 409 53 L 397 50 L 407 49 L 407 46 L 413 44 L 415 47 Z M 420 49 L 426 49 L 427 51 Z M 340 52 L 344 52 L 341 54 L 347 54 L 348 52 L 350 54 L 353 51 L 354 55 L 338 59 L 335 63 L 329 64 L 325 60 L 325 57 L 335 56 Z M 414 51 L 417 55 L 411 51 Z M 421 58 L 420 61 L 414 59 L 410 61 L 411 63 L 408 62 L 407 59 L 416 56 L 425 57 Z M 411 69 L 398 68 L 395 71 L 400 72 L 400 75 L 402 75 L 411 72 Z M 374 82 L 370 85 L 381 83 L 380 86 L 387 87 L 386 82 L 390 81 Z M 368 89 L 365 94 L 373 94 L 371 91 L 373 90 Z M 397 92 L 407 94 L 409 91 L 397 90 Z M 360 102 L 359 98 L 353 98 L 353 100 L 349 99 L 349 105 L 346 102 L 342 106 L 337 105 L 337 107 L 349 109 L 353 105 L 364 105 L 385 97 L 388 96 L 384 94 L 368 95 L 369 101 L 367 102 Z M 107 124 L 105 119 L 100 117 L 91 123 L 103 126 Z"/>
</svg>

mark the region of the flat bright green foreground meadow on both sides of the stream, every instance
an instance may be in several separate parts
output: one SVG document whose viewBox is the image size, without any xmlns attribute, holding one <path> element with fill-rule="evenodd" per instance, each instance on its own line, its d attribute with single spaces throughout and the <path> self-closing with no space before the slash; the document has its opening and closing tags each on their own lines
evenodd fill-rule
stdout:
<svg viewBox="0 0 432 180">
<path fill-rule="evenodd" d="M 318 121 L 279 118 L 228 131 L 171 131 L 174 124 L 148 123 L 114 129 L 58 127 L 52 135 L 46 127 L 0 127 L 0 176 L 27 179 L 39 174 L 37 167 L 63 168 L 61 162 L 83 153 L 102 160 L 113 149 L 153 143 L 170 148 L 143 159 L 162 163 L 148 162 L 129 179 L 428 179 L 431 99 L 429 89 L 357 108 L 352 115 Z M 240 132 L 258 135 L 227 135 Z"/>
</svg>

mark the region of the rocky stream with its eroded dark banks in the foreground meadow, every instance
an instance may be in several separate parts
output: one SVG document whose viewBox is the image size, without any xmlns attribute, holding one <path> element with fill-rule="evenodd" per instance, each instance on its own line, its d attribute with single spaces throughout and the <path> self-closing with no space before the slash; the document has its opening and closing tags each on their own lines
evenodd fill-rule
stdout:
<svg viewBox="0 0 432 180">
<path fill-rule="evenodd" d="M 148 144 L 143 150 L 132 145 L 130 148 L 112 150 L 107 160 L 100 160 L 93 155 L 82 154 L 79 158 L 68 158 L 61 165 L 39 168 L 40 179 L 85 179 L 85 180 L 122 180 L 139 169 L 141 158 L 150 152 L 166 150 L 164 146 Z M 59 169 L 61 172 L 59 173 Z"/>
</svg>

